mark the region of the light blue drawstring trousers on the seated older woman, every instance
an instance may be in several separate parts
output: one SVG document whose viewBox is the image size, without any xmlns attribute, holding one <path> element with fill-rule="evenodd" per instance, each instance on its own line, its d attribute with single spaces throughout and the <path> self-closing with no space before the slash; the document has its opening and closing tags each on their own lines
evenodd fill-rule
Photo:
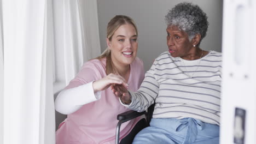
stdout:
<svg viewBox="0 0 256 144">
<path fill-rule="evenodd" d="M 132 143 L 218 144 L 219 126 L 194 118 L 152 118 L 150 127 L 139 131 Z"/>
</svg>

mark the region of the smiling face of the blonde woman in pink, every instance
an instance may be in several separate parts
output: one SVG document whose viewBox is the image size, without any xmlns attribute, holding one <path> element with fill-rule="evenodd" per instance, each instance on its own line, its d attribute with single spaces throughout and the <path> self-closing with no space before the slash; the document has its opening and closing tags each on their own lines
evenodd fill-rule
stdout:
<svg viewBox="0 0 256 144">
<path fill-rule="evenodd" d="M 136 29 L 131 24 L 121 25 L 114 32 L 111 41 L 107 39 L 107 44 L 114 64 L 131 64 L 138 49 Z"/>
</svg>

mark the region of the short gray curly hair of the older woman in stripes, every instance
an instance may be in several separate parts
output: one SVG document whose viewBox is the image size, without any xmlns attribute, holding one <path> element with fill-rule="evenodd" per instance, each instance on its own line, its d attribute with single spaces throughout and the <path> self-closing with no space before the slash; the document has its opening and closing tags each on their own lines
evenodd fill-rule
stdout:
<svg viewBox="0 0 256 144">
<path fill-rule="evenodd" d="M 165 16 L 165 22 L 167 26 L 178 26 L 188 34 L 189 40 L 193 39 L 197 33 L 201 34 L 202 40 L 206 36 L 209 25 L 206 13 L 198 5 L 188 2 L 179 3 L 169 10 Z"/>
</svg>

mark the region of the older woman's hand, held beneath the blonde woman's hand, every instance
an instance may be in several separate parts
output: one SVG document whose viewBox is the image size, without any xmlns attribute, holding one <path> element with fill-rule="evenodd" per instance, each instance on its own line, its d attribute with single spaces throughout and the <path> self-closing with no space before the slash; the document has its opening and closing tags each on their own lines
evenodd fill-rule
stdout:
<svg viewBox="0 0 256 144">
<path fill-rule="evenodd" d="M 121 99 L 121 101 L 124 104 L 130 104 L 131 103 L 131 97 L 129 92 L 127 91 L 127 87 L 124 87 L 123 85 L 112 85 L 111 87 L 112 92 Z"/>
</svg>

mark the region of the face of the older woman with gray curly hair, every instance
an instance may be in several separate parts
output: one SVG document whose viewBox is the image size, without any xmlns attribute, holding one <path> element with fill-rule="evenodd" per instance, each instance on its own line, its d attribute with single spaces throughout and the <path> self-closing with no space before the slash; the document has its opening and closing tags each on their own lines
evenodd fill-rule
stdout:
<svg viewBox="0 0 256 144">
<path fill-rule="evenodd" d="M 189 55 L 193 44 L 188 34 L 179 30 L 177 26 L 169 26 L 167 31 L 167 46 L 172 57 L 185 57 Z"/>
</svg>

